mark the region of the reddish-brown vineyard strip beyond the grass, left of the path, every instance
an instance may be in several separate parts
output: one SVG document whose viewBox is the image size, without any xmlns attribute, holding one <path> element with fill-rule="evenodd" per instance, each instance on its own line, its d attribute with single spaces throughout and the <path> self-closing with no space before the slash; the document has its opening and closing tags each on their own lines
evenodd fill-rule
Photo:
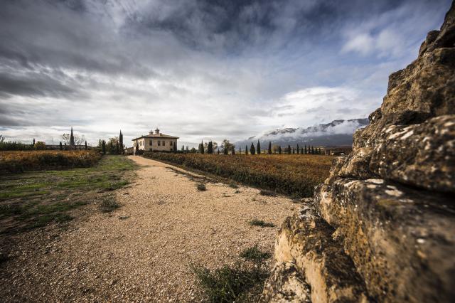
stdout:
<svg viewBox="0 0 455 303">
<path fill-rule="evenodd" d="M 96 164 L 96 151 L 0 151 L 0 172 L 17 173 L 46 169 L 71 169 Z"/>
</svg>

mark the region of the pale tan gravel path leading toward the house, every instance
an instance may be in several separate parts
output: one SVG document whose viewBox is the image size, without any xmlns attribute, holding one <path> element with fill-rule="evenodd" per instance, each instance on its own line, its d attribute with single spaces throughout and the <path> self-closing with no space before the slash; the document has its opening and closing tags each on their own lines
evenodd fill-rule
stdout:
<svg viewBox="0 0 455 303">
<path fill-rule="evenodd" d="M 63 232 L 24 235 L 2 268 L 2 301 L 199 302 L 189 265 L 220 267 L 256 243 L 273 252 L 279 225 L 296 208 L 245 186 L 208 182 L 198 191 L 191 173 L 131 159 L 141 169 L 132 186 L 117 191 L 121 208 L 75 220 Z M 254 218 L 277 228 L 251 226 Z M 43 245 L 37 239 L 46 232 Z"/>
</svg>

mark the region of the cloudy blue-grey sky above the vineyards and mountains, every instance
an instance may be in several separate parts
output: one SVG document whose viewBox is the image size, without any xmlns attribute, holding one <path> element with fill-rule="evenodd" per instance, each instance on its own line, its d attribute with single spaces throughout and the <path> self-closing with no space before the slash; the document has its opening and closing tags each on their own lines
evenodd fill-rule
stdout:
<svg viewBox="0 0 455 303">
<path fill-rule="evenodd" d="M 0 0 L 0 134 L 236 141 L 368 117 L 451 0 Z"/>
</svg>

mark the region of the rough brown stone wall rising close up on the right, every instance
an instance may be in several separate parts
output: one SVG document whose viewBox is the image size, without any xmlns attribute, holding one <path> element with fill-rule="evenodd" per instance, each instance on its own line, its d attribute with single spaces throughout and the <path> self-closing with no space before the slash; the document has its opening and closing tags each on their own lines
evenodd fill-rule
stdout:
<svg viewBox="0 0 455 303">
<path fill-rule="evenodd" d="M 455 5 L 277 236 L 264 302 L 453 302 Z"/>
</svg>

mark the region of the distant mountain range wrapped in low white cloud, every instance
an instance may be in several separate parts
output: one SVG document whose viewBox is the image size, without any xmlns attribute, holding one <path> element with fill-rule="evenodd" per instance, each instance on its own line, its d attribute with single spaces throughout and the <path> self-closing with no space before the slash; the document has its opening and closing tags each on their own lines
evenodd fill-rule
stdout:
<svg viewBox="0 0 455 303">
<path fill-rule="evenodd" d="M 284 128 L 274 129 L 270 132 L 264 132 L 246 140 L 235 142 L 236 147 L 245 147 L 252 142 L 261 143 L 262 148 L 266 148 L 269 142 L 283 147 L 297 144 L 313 146 L 350 146 L 353 144 L 353 133 L 355 130 L 365 127 L 369 124 L 368 119 L 338 119 L 327 124 L 314 125 L 312 127 Z"/>
</svg>

